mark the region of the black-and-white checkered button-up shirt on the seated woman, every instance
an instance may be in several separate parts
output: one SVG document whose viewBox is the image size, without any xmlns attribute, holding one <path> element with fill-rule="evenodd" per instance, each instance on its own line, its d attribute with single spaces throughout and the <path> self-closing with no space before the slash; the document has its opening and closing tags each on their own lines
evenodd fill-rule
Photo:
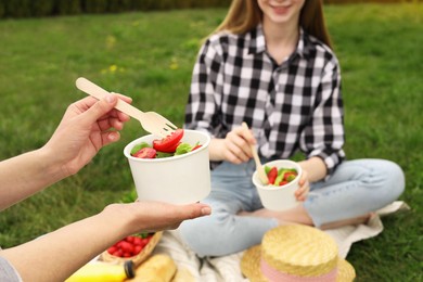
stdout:
<svg viewBox="0 0 423 282">
<path fill-rule="evenodd" d="M 335 54 L 300 30 L 282 64 L 266 51 L 261 25 L 244 35 L 213 35 L 200 50 L 185 108 L 188 129 L 225 138 L 246 121 L 266 158 L 298 150 L 332 172 L 345 157 L 341 70 Z"/>
</svg>

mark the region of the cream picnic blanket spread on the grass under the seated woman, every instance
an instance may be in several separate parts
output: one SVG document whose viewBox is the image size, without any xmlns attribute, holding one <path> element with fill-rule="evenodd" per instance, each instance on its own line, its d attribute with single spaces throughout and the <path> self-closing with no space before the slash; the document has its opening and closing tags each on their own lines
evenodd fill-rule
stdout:
<svg viewBox="0 0 423 282">
<path fill-rule="evenodd" d="M 338 245 L 339 256 L 346 258 L 355 242 L 374 238 L 383 231 L 381 217 L 407 210 L 409 206 L 400 201 L 394 202 L 377 210 L 366 225 L 346 226 L 337 229 L 325 230 Z M 243 252 L 223 256 L 198 258 L 179 236 L 178 230 L 166 231 L 154 253 L 167 254 L 176 262 L 180 271 L 189 271 L 191 281 L 201 282 L 246 282 L 241 273 L 240 261 Z M 191 282 L 184 278 L 184 282 Z"/>
</svg>

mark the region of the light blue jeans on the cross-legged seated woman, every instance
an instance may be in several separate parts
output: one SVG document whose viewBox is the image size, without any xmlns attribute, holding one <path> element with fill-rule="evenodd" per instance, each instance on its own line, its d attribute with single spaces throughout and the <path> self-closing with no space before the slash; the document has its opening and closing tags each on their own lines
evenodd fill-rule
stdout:
<svg viewBox="0 0 423 282">
<path fill-rule="evenodd" d="M 266 162 L 266 161 L 265 161 Z M 201 257 L 223 256 L 259 244 L 278 226 L 273 218 L 236 216 L 262 208 L 252 182 L 254 162 L 222 163 L 211 171 L 211 192 L 203 201 L 211 215 L 184 221 L 182 240 Z M 362 216 L 397 200 L 405 189 L 401 168 L 384 159 L 342 163 L 325 181 L 312 183 L 304 207 L 316 227 Z"/>
</svg>

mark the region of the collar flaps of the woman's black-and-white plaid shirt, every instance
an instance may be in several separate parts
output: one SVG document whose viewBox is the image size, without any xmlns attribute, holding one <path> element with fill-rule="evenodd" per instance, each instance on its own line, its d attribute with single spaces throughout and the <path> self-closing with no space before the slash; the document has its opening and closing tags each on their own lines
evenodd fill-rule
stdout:
<svg viewBox="0 0 423 282">
<path fill-rule="evenodd" d="M 262 25 L 259 24 L 255 29 L 252 29 L 249 33 L 249 47 L 248 54 L 252 53 L 262 53 L 266 51 L 266 38 L 265 33 L 262 31 Z M 298 54 L 300 57 L 307 57 L 309 54 L 309 48 L 307 47 L 307 34 L 304 31 L 303 27 L 299 28 L 299 40 L 297 48 L 295 49 L 293 55 Z"/>
</svg>

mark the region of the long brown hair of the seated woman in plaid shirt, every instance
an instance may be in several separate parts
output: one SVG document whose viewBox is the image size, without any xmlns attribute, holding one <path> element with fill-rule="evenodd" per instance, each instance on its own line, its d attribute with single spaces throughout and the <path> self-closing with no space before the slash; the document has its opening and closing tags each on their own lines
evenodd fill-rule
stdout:
<svg viewBox="0 0 423 282">
<path fill-rule="evenodd" d="M 215 33 L 229 30 L 233 34 L 245 34 L 255 28 L 262 18 L 262 12 L 257 0 L 232 0 L 228 14 Z M 306 0 L 299 15 L 303 29 L 332 48 L 324 15 L 323 0 Z"/>
</svg>

